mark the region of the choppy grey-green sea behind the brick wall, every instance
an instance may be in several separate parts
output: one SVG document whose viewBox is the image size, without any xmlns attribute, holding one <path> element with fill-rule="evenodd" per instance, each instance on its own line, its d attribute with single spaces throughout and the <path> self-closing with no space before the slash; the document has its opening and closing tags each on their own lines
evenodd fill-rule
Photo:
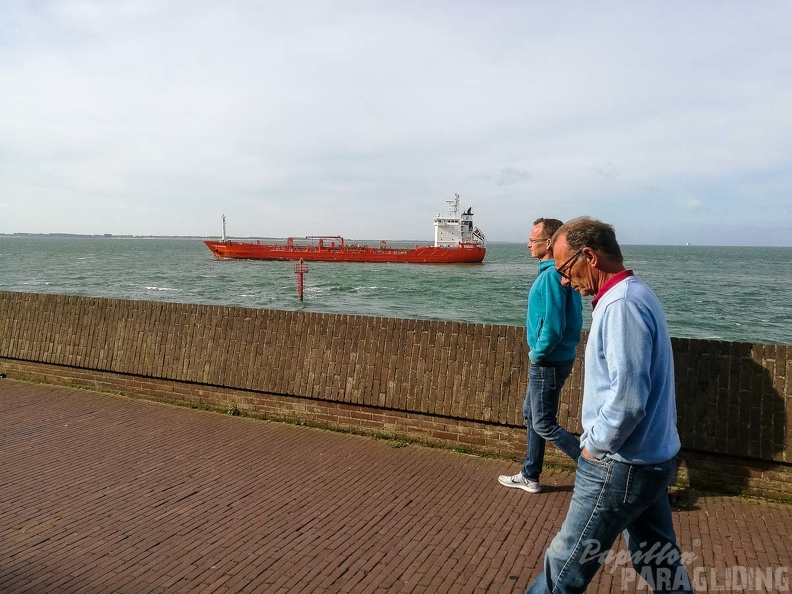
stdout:
<svg viewBox="0 0 792 594">
<path fill-rule="evenodd" d="M 622 251 L 672 336 L 792 345 L 792 247 Z M 0 291 L 523 327 L 538 270 L 525 244 L 505 242 L 488 242 L 481 264 L 311 262 L 300 300 L 294 264 L 216 260 L 200 238 L 0 236 Z M 586 328 L 590 310 L 584 298 Z"/>
</svg>

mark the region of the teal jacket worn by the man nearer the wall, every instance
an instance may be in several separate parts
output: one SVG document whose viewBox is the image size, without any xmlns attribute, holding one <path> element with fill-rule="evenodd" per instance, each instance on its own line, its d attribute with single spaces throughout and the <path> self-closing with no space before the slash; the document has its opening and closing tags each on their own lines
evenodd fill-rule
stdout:
<svg viewBox="0 0 792 594">
<path fill-rule="evenodd" d="M 583 329 L 583 306 L 577 291 L 561 285 L 555 260 L 539 262 L 539 274 L 528 293 L 525 325 L 531 363 L 560 363 L 575 358 Z"/>
</svg>

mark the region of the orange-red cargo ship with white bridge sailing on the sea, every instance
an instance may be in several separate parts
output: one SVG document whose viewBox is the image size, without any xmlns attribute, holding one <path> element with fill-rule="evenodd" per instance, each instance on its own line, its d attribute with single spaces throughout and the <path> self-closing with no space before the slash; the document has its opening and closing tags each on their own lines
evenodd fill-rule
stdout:
<svg viewBox="0 0 792 594">
<path fill-rule="evenodd" d="M 348 243 L 338 235 L 313 235 L 283 243 L 229 241 L 225 232 L 220 241 L 204 243 L 215 258 L 244 260 L 305 260 L 312 262 L 404 262 L 410 264 L 467 264 L 484 260 L 487 252 L 484 234 L 473 226 L 472 208 L 459 213 L 459 194 L 448 200 L 448 216 L 434 219 L 434 245 L 415 247 L 378 246 Z"/>
</svg>

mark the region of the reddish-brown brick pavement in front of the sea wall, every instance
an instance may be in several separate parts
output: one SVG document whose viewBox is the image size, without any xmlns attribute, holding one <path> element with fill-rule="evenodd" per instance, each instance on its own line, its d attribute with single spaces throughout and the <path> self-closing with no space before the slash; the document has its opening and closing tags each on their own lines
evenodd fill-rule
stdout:
<svg viewBox="0 0 792 594">
<path fill-rule="evenodd" d="M 530 495 L 497 484 L 515 462 L 10 379 L 0 419 L 0 592 L 522 592 L 573 480 Z M 792 581 L 792 506 L 683 500 L 698 591 Z M 625 575 L 590 591 L 641 591 Z"/>
</svg>

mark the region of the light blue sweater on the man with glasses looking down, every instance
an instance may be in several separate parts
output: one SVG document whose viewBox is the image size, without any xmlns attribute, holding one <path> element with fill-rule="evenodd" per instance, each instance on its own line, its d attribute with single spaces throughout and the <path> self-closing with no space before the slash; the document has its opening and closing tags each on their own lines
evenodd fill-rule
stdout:
<svg viewBox="0 0 792 594">
<path fill-rule="evenodd" d="M 636 276 L 599 300 L 586 345 L 580 442 L 597 458 L 653 464 L 679 451 L 674 361 L 657 296 Z"/>
</svg>

